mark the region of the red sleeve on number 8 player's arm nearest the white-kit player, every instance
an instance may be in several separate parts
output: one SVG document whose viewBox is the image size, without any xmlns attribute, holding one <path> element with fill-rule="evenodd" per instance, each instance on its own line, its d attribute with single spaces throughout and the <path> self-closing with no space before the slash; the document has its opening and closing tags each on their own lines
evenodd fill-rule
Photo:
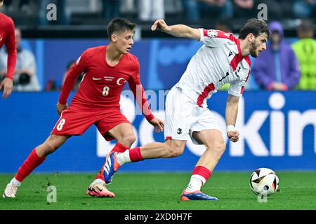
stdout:
<svg viewBox="0 0 316 224">
<path fill-rule="evenodd" d="M 145 90 L 143 88 L 142 83 L 140 82 L 140 65 L 137 59 L 136 59 L 136 71 L 133 74 L 133 76 L 129 78 L 129 87 L 131 88 L 131 91 L 134 94 L 136 102 L 139 108 L 141 109 L 143 115 L 145 116 L 145 118 L 147 120 L 154 119 L 154 115 L 152 114 L 152 111 L 148 104 Z"/>
</svg>

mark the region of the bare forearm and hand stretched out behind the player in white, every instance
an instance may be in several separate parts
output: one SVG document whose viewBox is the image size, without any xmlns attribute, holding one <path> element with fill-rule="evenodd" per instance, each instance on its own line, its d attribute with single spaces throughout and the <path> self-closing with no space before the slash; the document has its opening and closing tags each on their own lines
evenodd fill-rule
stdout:
<svg viewBox="0 0 316 224">
<path fill-rule="evenodd" d="M 166 24 L 164 20 L 156 20 L 156 22 L 154 22 L 154 24 L 152 25 L 152 31 L 156 29 L 159 29 L 160 31 L 164 31 L 167 34 L 171 34 L 172 36 L 191 38 L 197 41 L 199 41 L 201 38 L 199 29 L 187 27 L 186 25 L 169 26 Z"/>
</svg>

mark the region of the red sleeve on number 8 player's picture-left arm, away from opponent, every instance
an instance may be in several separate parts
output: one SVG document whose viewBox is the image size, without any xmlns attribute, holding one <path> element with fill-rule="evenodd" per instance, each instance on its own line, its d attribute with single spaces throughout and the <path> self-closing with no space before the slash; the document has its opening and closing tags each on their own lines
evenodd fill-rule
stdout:
<svg viewBox="0 0 316 224">
<path fill-rule="evenodd" d="M 67 104 L 67 99 L 69 97 L 72 88 L 74 87 L 74 83 L 76 83 L 77 78 L 80 74 L 86 71 L 87 64 L 87 51 L 85 51 L 77 61 L 72 65 L 70 70 L 68 71 L 64 85 L 62 85 L 62 91 L 59 97 L 60 104 Z"/>
</svg>

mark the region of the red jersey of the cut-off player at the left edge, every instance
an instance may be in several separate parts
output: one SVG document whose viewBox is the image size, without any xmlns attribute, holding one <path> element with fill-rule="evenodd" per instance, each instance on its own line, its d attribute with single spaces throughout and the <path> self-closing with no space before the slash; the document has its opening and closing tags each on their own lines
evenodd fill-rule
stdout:
<svg viewBox="0 0 316 224">
<path fill-rule="evenodd" d="M 7 78 L 13 79 L 16 64 L 15 27 L 11 18 L 0 13 L 0 48 L 6 44 L 8 50 Z"/>
</svg>

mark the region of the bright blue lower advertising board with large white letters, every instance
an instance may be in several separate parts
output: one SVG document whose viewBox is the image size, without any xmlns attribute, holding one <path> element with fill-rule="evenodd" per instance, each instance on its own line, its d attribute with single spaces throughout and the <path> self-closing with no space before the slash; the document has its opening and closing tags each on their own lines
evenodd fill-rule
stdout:
<svg viewBox="0 0 316 224">
<path fill-rule="evenodd" d="M 164 119 L 166 92 L 147 91 L 154 114 Z M 74 96 L 71 94 L 70 99 Z M 32 149 L 43 143 L 58 120 L 55 104 L 58 92 L 13 92 L 0 100 L 0 173 L 16 172 Z M 209 99 L 209 109 L 223 130 L 227 149 L 216 170 L 242 171 L 258 167 L 276 170 L 316 170 L 316 92 L 245 92 L 239 103 L 237 143 L 225 136 L 225 104 L 228 94 L 218 92 Z M 159 104 L 154 104 L 154 101 Z M 159 105 L 159 106 L 157 106 Z M 133 98 L 121 98 L 121 111 L 133 123 L 136 142 L 142 146 L 164 141 L 162 133 L 142 115 Z M 37 172 L 97 172 L 105 155 L 114 146 L 106 142 L 96 127 L 79 137 L 70 138 L 50 155 Z M 124 165 L 124 172 L 190 172 L 204 146 L 189 139 L 185 152 L 178 158 L 146 160 Z"/>
</svg>

